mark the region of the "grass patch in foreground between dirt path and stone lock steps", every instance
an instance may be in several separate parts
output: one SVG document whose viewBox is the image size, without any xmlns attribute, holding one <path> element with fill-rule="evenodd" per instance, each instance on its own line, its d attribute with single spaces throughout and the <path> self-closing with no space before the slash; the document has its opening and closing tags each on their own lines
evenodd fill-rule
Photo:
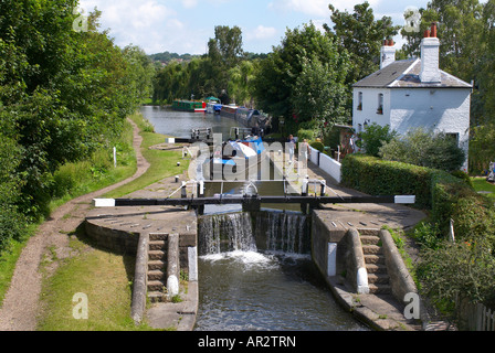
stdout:
<svg viewBox="0 0 495 353">
<path fill-rule="evenodd" d="M 151 330 L 147 324 L 136 327 L 130 318 L 135 257 L 94 249 L 75 237 L 71 246 L 78 255 L 64 260 L 43 284 L 38 330 Z M 87 319 L 77 317 L 82 301 L 74 301 L 76 293 L 87 296 Z"/>
</svg>

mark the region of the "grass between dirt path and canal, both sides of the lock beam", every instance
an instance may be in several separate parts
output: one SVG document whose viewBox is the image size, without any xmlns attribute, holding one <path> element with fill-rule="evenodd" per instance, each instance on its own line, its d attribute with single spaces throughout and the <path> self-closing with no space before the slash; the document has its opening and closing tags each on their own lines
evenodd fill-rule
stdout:
<svg viewBox="0 0 495 353">
<path fill-rule="evenodd" d="M 181 150 L 149 150 L 148 147 L 164 142 L 165 136 L 151 132 L 152 128 L 141 115 L 135 115 L 131 119 L 141 130 L 141 152 L 150 167 L 143 176 L 108 193 L 105 197 L 119 197 L 178 173 L 176 163 Z M 180 172 L 186 168 L 187 163 L 180 167 Z M 56 272 L 44 280 L 43 314 L 40 318 L 39 330 L 151 330 L 146 323 L 135 327 L 130 319 L 134 255 L 123 256 L 95 249 L 83 234 L 69 236 L 76 255 L 60 260 Z M 78 292 L 85 293 L 88 298 L 87 320 L 73 318 L 75 303 L 72 299 Z"/>
</svg>

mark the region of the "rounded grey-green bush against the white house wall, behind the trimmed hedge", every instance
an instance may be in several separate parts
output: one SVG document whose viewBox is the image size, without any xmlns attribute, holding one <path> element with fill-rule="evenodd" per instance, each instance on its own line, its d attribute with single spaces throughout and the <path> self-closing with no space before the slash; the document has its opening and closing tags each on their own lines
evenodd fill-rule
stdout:
<svg viewBox="0 0 495 353">
<path fill-rule="evenodd" d="M 380 148 L 385 160 L 411 163 L 452 172 L 460 170 L 465 161 L 465 152 L 447 135 L 434 135 L 422 128 L 411 130 L 406 136 L 394 137 Z"/>
</svg>

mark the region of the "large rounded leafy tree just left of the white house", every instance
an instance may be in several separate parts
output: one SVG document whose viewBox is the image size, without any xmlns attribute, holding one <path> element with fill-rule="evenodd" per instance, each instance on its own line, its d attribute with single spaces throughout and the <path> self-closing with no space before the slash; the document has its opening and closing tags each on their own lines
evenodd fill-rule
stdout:
<svg viewBox="0 0 495 353">
<path fill-rule="evenodd" d="M 287 29 L 281 45 L 274 47 L 260 63 L 260 73 L 253 82 L 256 104 L 273 116 L 285 117 L 286 127 L 297 131 L 301 122 L 298 115 L 303 121 L 319 118 L 320 114 L 316 117 L 307 111 L 308 105 L 315 107 L 316 101 L 322 103 L 325 97 L 330 96 L 331 93 L 323 86 L 330 84 L 330 87 L 339 87 L 338 83 L 341 83 L 349 69 L 345 51 L 337 50 L 334 40 L 318 31 L 313 23 L 304 24 L 302 29 Z M 317 77 L 313 87 L 304 87 L 318 73 L 329 76 Z M 317 93 L 318 89 L 324 92 Z M 305 94 L 309 90 L 316 100 L 305 101 Z M 350 92 L 343 94 L 347 100 Z M 341 101 L 340 98 L 339 96 L 337 104 Z M 340 113 L 336 114 L 336 109 L 333 109 L 331 116 L 335 118 L 337 115 Z"/>
</svg>

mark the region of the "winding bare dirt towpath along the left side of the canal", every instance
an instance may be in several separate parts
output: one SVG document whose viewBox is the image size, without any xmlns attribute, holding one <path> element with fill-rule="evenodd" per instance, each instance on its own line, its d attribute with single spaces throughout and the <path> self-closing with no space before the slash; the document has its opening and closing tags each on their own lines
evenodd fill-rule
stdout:
<svg viewBox="0 0 495 353">
<path fill-rule="evenodd" d="M 117 184 L 67 202 L 40 225 L 36 234 L 28 240 L 17 263 L 9 291 L 0 308 L 0 331 L 34 331 L 36 329 L 43 277 L 40 272 L 40 264 L 45 255 L 50 255 L 54 249 L 59 259 L 70 256 L 66 234 L 73 232 L 84 221 L 86 212 L 92 206 L 92 200 L 139 178 L 148 170 L 149 163 L 140 152 L 143 138 L 139 136 L 139 128 L 130 119 L 128 121 L 134 127 L 136 173 Z"/>
</svg>

